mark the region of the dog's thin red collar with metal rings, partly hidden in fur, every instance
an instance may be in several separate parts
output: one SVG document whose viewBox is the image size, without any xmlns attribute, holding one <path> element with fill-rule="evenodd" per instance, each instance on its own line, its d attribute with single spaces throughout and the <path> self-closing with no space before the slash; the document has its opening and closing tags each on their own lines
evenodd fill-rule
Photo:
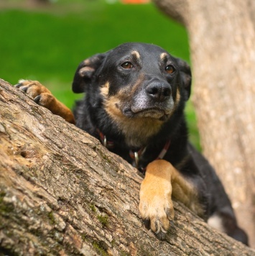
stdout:
<svg viewBox="0 0 255 256">
<path fill-rule="evenodd" d="M 104 135 L 99 130 L 98 130 L 98 133 L 103 146 L 107 147 L 108 149 L 113 149 L 114 142 L 108 141 L 106 139 L 106 135 Z M 163 149 L 161 150 L 161 152 L 159 153 L 158 157 L 155 160 L 163 159 L 169 147 L 170 147 L 170 140 L 167 140 L 166 144 L 164 145 Z M 129 150 L 129 156 L 134 160 L 134 167 L 138 168 L 139 158 L 144 154 L 145 151 L 146 151 L 146 147 L 142 147 L 138 151 Z M 143 168 L 143 172 L 145 172 L 145 170 L 146 168 Z"/>
</svg>

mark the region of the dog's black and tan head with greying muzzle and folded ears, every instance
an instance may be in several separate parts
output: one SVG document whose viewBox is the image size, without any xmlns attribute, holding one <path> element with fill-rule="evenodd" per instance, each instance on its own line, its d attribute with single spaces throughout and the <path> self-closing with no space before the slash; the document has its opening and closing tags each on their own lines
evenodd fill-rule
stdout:
<svg viewBox="0 0 255 256">
<path fill-rule="evenodd" d="M 101 101 L 108 115 L 124 127 L 130 120 L 160 127 L 187 101 L 190 85 L 190 67 L 183 60 L 155 45 L 126 43 L 83 60 L 73 91 L 99 95 L 93 101 Z"/>
</svg>

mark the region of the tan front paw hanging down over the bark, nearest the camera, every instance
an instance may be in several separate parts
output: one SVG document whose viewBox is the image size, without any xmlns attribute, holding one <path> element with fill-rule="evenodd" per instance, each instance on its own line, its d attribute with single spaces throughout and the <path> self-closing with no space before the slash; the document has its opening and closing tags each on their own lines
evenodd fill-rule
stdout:
<svg viewBox="0 0 255 256">
<path fill-rule="evenodd" d="M 139 211 L 144 224 L 159 239 L 165 238 L 175 216 L 171 195 L 170 175 L 157 163 L 149 164 L 141 185 Z"/>
</svg>

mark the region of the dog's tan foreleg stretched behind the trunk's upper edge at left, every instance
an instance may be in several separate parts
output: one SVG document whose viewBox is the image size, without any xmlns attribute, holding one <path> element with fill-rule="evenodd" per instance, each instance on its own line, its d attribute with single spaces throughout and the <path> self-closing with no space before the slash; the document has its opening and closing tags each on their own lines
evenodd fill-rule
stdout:
<svg viewBox="0 0 255 256">
<path fill-rule="evenodd" d="M 32 97 L 34 101 L 45 108 L 52 111 L 53 114 L 57 114 L 71 124 L 75 124 L 75 118 L 72 111 L 67 106 L 58 101 L 55 96 L 38 81 L 20 80 L 16 85 L 28 96 Z"/>
</svg>

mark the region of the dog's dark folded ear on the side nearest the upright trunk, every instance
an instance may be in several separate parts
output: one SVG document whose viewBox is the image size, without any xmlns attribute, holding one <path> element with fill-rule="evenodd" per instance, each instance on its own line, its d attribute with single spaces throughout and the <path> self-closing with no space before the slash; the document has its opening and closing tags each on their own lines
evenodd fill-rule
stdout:
<svg viewBox="0 0 255 256">
<path fill-rule="evenodd" d="M 177 58 L 177 64 L 180 70 L 180 80 L 183 88 L 185 89 L 185 100 L 190 98 L 191 92 L 191 70 L 190 65 L 188 65 L 184 60 Z"/>
</svg>

